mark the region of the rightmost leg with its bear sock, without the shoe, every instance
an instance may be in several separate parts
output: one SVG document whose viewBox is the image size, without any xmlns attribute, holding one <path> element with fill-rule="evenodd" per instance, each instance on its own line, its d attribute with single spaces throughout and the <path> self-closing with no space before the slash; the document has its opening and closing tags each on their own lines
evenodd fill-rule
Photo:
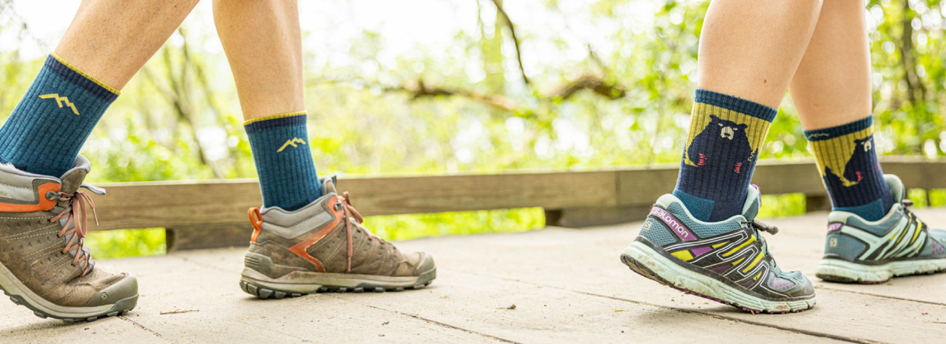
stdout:
<svg viewBox="0 0 946 344">
<path fill-rule="evenodd" d="M 890 195 L 873 141 L 864 3 L 826 2 L 792 79 L 792 99 L 834 210 L 884 217 Z"/>
</svg>

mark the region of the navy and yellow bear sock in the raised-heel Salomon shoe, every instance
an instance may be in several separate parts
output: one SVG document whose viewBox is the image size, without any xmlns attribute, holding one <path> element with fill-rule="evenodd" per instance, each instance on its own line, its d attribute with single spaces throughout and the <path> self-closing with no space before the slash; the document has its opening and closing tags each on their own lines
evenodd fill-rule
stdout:
<svg viewBox="0 0 946 344">
<path fill-rule="evenodd" d="M 743 213 L 759 148 L 776 113 L 742 98 L 696 90 L 674 188 L 694 217 L 716 222 Z"/>
</svg>

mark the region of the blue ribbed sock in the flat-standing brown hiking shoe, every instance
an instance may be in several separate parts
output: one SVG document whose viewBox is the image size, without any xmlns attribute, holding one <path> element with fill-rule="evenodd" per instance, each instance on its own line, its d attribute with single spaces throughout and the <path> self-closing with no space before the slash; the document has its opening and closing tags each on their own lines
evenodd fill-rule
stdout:
<svg viewBox="0 0 946 344">
<path fill-rule="evenodd" d="M 293 211 L 322 197 L 322 185 L 308 147 L 306 112 L 290 112 L 249 120 L 264 207 Z"/>
</svg>

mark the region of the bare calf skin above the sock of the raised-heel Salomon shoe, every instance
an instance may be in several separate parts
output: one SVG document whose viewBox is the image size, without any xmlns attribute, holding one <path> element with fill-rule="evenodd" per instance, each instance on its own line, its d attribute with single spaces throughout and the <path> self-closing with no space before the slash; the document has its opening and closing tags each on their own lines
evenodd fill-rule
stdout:
<svg viewBox="0 0 946 344">
<path fill-rule="evenodd" d="M 820 10 L 820 0 L 711 2 L 697 87 L 778 109 Z"/>
</svg>

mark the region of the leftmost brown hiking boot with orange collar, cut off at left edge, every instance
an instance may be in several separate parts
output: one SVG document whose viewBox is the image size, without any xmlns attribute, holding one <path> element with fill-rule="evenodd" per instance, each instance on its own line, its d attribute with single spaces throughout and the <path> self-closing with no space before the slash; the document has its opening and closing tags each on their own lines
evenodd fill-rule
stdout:
<svg viewBox="0 0 946 344">
<path fill-rule="evenodd" d="M 128 274 L 96 268 L 83 247 L 82 185 L 89 161 L 79 156 L 61 179 L 0 164 L 0 288 L 41 318 L 67 322 L 124 314 L 138 302 L 138 282 Z"/>
</svg>

